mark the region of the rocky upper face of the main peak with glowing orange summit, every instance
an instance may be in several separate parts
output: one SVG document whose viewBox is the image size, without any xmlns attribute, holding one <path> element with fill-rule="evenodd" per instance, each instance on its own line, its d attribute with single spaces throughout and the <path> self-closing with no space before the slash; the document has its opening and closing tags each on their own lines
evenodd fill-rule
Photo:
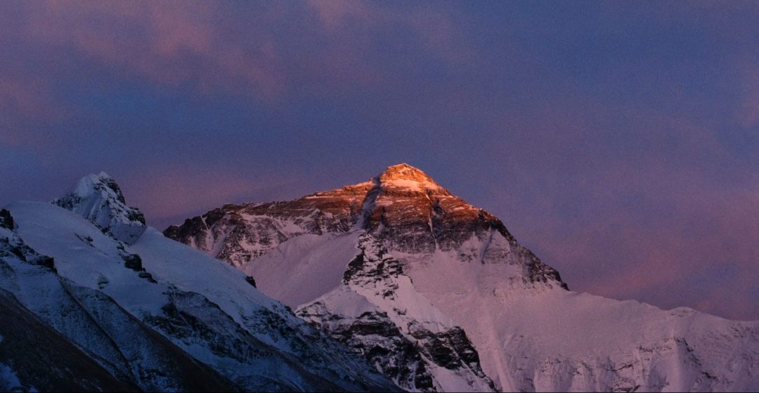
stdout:
<svg viewBox="0 0 759 393">
<path fill-rule="evenodd" d="M 243 267 L 298 235 L 341 234 L 352 229 L 372 233 L 398 251 L 431 254 L 461 251 L 480 263 L 519 265 L 525 282 L 555 282 L 559 273 L 521 247 L 493 214 L 468 204 L 408 164 L 388 167 L 366 182 L 294 201 L 227 204 L 164 235 Z M 492 242 L 493 237 L 498 241 Z M 472 241 L 489 245 L 474 251 Z"/>
</svg>

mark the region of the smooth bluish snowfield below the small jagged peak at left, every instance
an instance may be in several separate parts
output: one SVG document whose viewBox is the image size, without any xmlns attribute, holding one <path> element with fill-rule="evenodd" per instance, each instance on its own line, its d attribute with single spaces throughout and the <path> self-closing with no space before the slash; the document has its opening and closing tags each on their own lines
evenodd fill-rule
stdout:
<svg viewBox="0 0 759 393">
<path fill-rule="evenodd" d="M 40 254 L 54 257 L 60 276 L 101 290 L 134 315 L 161 315 L 162 299 L 171 286 L 203 294 L 241 326 L 244 316 L 278 304 L 245 281 L 235 267 L 168 239 L 155 228 L 148 227 L 125 252 L 139 254 L 158 284 L 124 267 L 120 244 L 78 214 L 42 202 L 17 202 L 9 208 L 20 237 Z M 80 238 L 92 239 L 91 245 Z M 104 280 L 109 283 L 101 289 Z"/>
</svg>

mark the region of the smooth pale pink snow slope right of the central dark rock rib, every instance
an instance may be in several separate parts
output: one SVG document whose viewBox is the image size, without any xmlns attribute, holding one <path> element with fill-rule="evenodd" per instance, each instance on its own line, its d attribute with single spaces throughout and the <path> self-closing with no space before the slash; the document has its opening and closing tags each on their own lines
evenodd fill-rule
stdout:
<svg viewBox="0 0 759 393">
<path fill-rule="evenodd" d="M 405 255 L 415 289 L 471 337 L 507 391 L 745 391 L 759 386 L 759 323 L 660 310 L 554 287 L 497 265 Z M 455 275 L 441 274 L 455 272 Z"/>
</svg>

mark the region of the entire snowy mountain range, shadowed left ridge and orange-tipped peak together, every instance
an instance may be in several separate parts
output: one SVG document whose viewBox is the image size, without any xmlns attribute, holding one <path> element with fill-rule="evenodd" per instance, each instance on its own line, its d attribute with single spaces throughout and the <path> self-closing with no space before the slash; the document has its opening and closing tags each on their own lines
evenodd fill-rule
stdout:
<svg viewBox="0 0 759 393">
<path fill-rule="evenodd" d="M 0 391 L 759 388 L 759 322 L 572 292 L 408 164 L 163 233 L 85 176 L 0 209 L 0 315 Z"/>
</svg>

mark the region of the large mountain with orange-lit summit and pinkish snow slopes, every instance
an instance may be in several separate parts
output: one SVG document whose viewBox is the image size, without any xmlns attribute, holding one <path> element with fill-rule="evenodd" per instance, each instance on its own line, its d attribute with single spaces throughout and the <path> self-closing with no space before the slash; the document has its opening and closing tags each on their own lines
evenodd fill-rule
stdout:
<svg viewBox="0 0 759 393">
<path fill-rule="evenodd" d="M 409 391 L 759 388 L 759 322 L 569 291 L 501 220 L 408 164 L 164 234 L 253 277 Z"/>
</svg>

